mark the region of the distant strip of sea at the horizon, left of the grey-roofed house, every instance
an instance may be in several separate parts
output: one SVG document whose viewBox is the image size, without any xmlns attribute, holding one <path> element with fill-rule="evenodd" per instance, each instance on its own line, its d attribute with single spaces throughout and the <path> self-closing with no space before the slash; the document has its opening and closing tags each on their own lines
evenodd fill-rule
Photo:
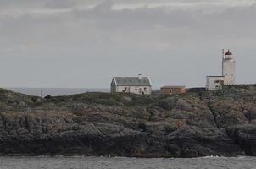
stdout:
<svg viewBox="0 0 256 169">
<path fill-rule="evenodd" d="M 45 97 L 47 95 L 75 95 L 86 92 L 110 92 L 109 89 L 92 89 L 92 88 L 8 88 L 15 92 L 19 92 L 25 95 L 36 95 Z"/>
</svg>

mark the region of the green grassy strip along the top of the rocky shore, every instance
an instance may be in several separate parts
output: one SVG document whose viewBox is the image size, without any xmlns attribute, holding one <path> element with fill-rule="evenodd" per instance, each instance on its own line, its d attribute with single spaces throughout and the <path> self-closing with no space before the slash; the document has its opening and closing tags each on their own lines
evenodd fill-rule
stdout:
<svg viewBox="0 0 256 169">
<path fill-rule="evenodd" d="M 256 84 L 254 85 L 231 85 L 224 86 L 223 90 L 217 91 L 192 91 L 184 94 L 176 95 L 134 95 L 125 93 L 97 93 L 88 92 L 79 95 L 68 95 L 68 96 L 47 96 L 46 98 L 40 98 L 36 96 L 23 95 L 15 93 L 13 91 L 0 89 L 0 110 L 6 110 L 6 107 L 11 106 L 15 108 L 19 107 L 36 107 L 42 106 L 45 103 L 53 103 L 57 106 L 64 106 L 65 104 L 101 104 L 107 106 L 160 106 L 164 109 L 170 109 L 170 101 L 175 100 L 177 97 L 199 97 L 201 99 L 205 98 L 207 95 L 217 96 L 219 98 L 225 97 L 241 97 L 243 92 L 241 90 L 254 90 Z M 237 95 L 238 94 L 238 95 Z M 169 99 L 170 98 L 170 99 Z M 165 101 L 165 102 L 164 102 Z"/>
</svg>

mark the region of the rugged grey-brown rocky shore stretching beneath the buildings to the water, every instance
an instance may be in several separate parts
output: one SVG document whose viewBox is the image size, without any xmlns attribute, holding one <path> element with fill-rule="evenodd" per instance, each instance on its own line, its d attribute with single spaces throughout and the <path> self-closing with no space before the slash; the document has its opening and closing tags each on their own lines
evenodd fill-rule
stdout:
<svg viewBox="0 0 256 169">
<path fill-rule="evenodd" d="M 256 155 L 256 85 L 182 95 L 0 90 L 1 155 Z"/>
</svg>

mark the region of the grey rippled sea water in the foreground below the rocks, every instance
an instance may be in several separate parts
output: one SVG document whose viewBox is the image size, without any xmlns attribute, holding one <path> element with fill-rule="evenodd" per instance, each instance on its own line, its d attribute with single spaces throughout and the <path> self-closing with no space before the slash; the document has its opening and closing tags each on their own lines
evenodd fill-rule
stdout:
<svg viewBox="0 0 256 169">
<path fill-rule="evenodd" d="M 255 169 L 255 157 L 141 159 L 125 157 L 0 157 L 1 169 Z"/>
</svg>

